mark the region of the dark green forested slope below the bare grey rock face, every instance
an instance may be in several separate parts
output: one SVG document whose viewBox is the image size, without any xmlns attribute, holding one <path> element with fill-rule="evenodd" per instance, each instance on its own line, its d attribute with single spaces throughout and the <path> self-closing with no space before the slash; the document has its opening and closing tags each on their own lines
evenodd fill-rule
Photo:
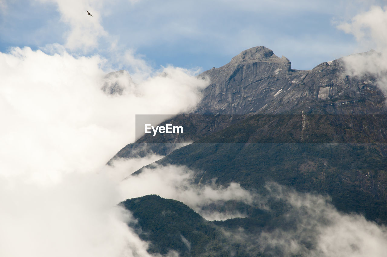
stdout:
<svg viewBox="0 0 387 257">
<path fill-rule="evenodd" d="M 383 119 L 377 125 L 375 117 L 364 116 L 363 120 L 354 121 L 350 115 L 338 115 L 337 119 L 332 116 L 333 119 L 321 121 L 322 116 L 312 115 L 309 117 L 312 125 L 302 132 L 303 140 L 292 142 L 301 133 L 301 122 L 297 122 L 296 115 L 277 117 L 288 117 L 288 120 L 260 123 L 262 118 L 247 118 L 173 151 L 158 163 L 205 171 L 203 176 L 197 176 L 202 183 L 216 178 L 221 185 L 237 182 L 261 193 L 266 182 L 274 181 L 301 192 L 328 194 L 340 211 L 358 212 L 370 220 L 387 222 L 387 147 L 383 142 Z M 270 127 L 272 123 L 276 126 Z M 245 142 L 208 143 L 223 138 L 228 142 L 240 142 L 244 138 Z M 265 142 L 265 138 L 270 140 Z M 353 141 L 356 143 L 348 143 Z"/>
</svg>

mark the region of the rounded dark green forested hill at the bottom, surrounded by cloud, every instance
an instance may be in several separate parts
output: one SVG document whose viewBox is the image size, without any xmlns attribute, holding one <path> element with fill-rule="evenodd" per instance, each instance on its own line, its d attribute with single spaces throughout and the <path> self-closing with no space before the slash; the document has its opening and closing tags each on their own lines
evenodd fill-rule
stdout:
<svg viewBox="0 0 387 257">
<path fill-rule="evenodd" d="M 138 224 L 131 225 L 142 240 L 150 242 L 148 252 L 179 256 L 266 256 L 250 243 L 225 236 L 224 224 L 206 221 L 182 202 L 145 195 L 120 203 L 131 211 Z M 247 246 L 249 246 L 247 248 Z"/>
</svg>

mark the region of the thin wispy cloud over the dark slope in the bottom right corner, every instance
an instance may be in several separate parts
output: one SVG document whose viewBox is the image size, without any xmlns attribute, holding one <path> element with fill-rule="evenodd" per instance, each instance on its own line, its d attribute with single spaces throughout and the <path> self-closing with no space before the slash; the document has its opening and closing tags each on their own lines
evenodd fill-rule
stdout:
<svg viewBox="0 0 387 257">
<path fill-rule="evenodd" d="M 382 257 L 387 250 L 387 228 L 359 214 L 343 214 L 329 197 L 298 193 L 276 183 L 266 185 L 270 197 L 290 208 L 281 216 L 288 228 L 264 231 L 255 237 L 266 253 L 276 255 Z M 290 225 L 289 225 L 290 224 Z"/>
</svg>

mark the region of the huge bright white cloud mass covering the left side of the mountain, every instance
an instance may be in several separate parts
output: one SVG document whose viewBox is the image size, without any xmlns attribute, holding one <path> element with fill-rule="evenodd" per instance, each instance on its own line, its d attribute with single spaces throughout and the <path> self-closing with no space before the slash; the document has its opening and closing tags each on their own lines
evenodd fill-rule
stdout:
<svg viewBox="0 0 387 257">
<path fill-rule="evenodd" d="M 60 45 L 0 53 L 0 255 L 150 256 L 116 207 L 118 180 L 161 156 L 131 160 L 121 174 L 105 164 L 134 141 L 135 114 L 188 111 L 208 82 L 174 67 L 139 83 L 109 71 L 106 59 Z M 122 94 L 103 90 L 114 84 Z"/>
</svg>

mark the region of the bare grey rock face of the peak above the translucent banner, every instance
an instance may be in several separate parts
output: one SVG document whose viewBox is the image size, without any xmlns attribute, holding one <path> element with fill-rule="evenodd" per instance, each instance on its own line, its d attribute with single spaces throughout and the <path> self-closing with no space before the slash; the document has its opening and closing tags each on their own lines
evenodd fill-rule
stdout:
<svg viewBox="0 0 387 257">
<path fill-rule="evenodd" d="M 211 79 L 195 113 L 385 113 L 385 96 L 375 77 L 344 75 L 341 59 L 312 70 L 293 70 L 286 57 L 253 47 L 220 68 L 201 74 Z"/>
</svg>

